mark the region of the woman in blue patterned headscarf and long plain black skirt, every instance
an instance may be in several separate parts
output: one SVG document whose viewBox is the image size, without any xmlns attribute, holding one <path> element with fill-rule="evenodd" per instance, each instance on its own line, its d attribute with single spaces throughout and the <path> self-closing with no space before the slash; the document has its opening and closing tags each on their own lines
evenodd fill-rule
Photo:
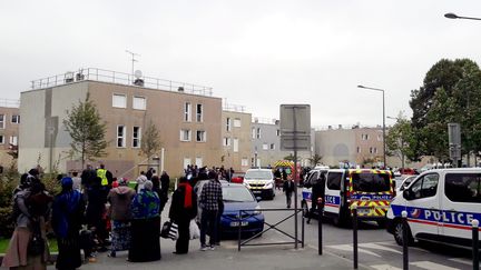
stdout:
<svg viewBox="0 0 481 270">
<path fill-rule="evenodd" d="M 130 204 L 131 239 L 128 260 L 135 262 L 160 260 L 160 200 L 146 181 Z"/>
</svg>

